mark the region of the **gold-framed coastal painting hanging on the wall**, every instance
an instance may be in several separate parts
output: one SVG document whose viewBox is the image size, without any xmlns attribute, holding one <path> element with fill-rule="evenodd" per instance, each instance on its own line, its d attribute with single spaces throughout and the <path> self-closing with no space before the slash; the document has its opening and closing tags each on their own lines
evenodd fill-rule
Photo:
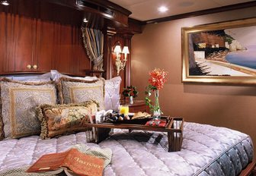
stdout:
<svg viewBox="0 0 256 176">
<path fill-rule="evenodd" d="M 256 17 L 183 27 L 182 81 L 256 84 Z"/>
</svg>

